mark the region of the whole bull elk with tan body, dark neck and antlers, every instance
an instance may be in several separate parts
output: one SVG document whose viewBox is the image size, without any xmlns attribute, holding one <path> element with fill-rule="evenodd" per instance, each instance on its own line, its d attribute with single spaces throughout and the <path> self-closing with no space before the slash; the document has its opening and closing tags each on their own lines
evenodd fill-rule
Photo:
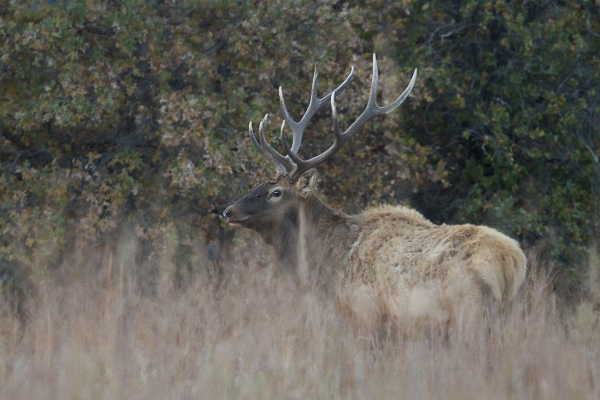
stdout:
<svg viewBox="0 0 600 400">
<path fill-rule="evenodd" d="M 258 232 L 275 249 L 282 266 L 305 279 L 312 277 L 333 294 L 338 309 L 362 331 L 373 332 L 389 322 L 418 329 L 431 329 L 433 323 L 448 329 L 451 323 L 477 321 L 486 305 L 497 311 L 506 309 L 525 279 L 525 255 L 515 240 L 486 226 L 436 225 L 404 206 L 383 205 L 347 215 L 313 194 L 318 180 L 315 167 L 332 157 L 370 118 L 402 104 L 414 86 L 417 70 L 404 92 L 381 107 L 376 101 L 374 54 L 367 106 L 341 132 L 335 97 L 353 76 L 354 67 L 339 87 L 318 98 L 317 64 L 310 101 L 298 122 L 290 116 L 279 88 L 285 155 L 265 138 L 267 115 L 258 138 L 252 122 L 249 126 L 252 143 L 272 161 L 277 174 L 229 206 L 223 216 L 234 226 Z M 327 103 L 331 105 L 333 144 L 304 160 L 298 156 L 304 130 Z M 292 131 L 291 147 L 286 124 Z"/>
</svg>

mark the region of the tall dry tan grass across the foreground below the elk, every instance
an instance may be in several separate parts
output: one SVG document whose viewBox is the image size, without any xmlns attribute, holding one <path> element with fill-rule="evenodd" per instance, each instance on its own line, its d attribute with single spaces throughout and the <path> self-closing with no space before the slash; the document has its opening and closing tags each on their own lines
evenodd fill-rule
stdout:
<svg viewBox="0 0 600 400">
<path fill-rule="evenodd" d="M 600 313 L 559 317 L 535 271 L 502 326 L 377 342 L 274 268 L 237 265 L 219 291 L 163 279 L 142 294 L 126 263 L 39 283 L 25 323 L 1 313 L 0 398 L 600 398 Z"/>
</svg>

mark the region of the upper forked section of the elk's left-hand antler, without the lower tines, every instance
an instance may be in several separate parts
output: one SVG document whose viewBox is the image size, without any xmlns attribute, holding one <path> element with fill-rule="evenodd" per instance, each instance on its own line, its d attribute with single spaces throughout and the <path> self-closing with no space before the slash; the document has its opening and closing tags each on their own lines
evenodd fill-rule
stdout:
<svg viewBox="0 0 600 400">
<path fill-rule="evenodd" d="M 317 97 L 318 76 L 319 76 L 319 64 L 317 63 L 315 65 L 315 73 L 313 75 L 313 83 L 312 83 L 312 88 L 311 88 L 311 93 L 310 93 L 310 101 L 308 103 L 308 107 L 306 108 L 304 115 L 298 122 L 294 121 L 292 119 L 290 113 L 288 112 L 287 107 L 285 106 L 285 100 L 283 98 L 283 88 L 281 86 L 279 87 L 279 101 L 281 103 L 283 115 L 285 117 L 286 122 L 290 126 L 290 129 L 292 130 L 292 138 L 293 139 L 292 139 L 292 147 L 290 149 L 290 152 L 293 154 L 298 153 L 298 150 L 300 149 L 300 142 L 302 141 L 302 136 L 304 135 L 304 130 L 306 129 L 308 122 L 311 120 L 311 118 L 313 117 L 315 112 L 329 101 L 329 98 L 331 97 L 331 95 L 334 92 L 341 93 L 342 91 L 344 91 L 346 89 L 346 87 L 348 87 L 348 85 L 350 84 L 350 81 L 352 81 L 352 78 L 354 77 L 354 67 L 352 67 L 350 74 L 348 74 L 348 76 L 346 77 L 344 82 L 342 82 L 341 85 L 339 85 L 336 89 L 334 89 L 329 94 L 327 94 L 325 97 L 320 98 L 320 99 Z"/>
</svg>

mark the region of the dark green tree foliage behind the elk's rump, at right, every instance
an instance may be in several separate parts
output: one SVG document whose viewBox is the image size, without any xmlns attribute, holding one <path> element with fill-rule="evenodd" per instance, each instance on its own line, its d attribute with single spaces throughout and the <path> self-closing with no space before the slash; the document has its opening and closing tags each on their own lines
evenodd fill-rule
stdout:
<svg viewBox="0 0 600 400">
<path fill-rule="evenodd" d="M 488 223 L 576 272 L 599 223 L 597 2 L 408 9 L 391 41 L 399 59 L 425 66 L 426 83 L 407 127 L 449 183 L 424 189 L 425 212 Z"/>
</svg>

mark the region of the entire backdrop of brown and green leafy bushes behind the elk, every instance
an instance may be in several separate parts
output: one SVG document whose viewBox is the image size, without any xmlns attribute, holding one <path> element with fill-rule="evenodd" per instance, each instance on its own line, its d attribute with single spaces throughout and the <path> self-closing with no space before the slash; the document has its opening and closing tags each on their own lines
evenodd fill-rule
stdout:
<svg viewBox="0 0 600 400">
<path fill-rule="evenodd" d="M 45 271 L 126 220 L 146 261 L 185 257 L 215 229 L 211 211 L 273 173 L 246 129 L 269 112 L 274 135 L 276 89 L 298 118 L 314 62 L 321 93 L 355 65 L 338 101 L 348 123 L 372 52 L 382 102 L 414 67 L 419 80 L 403 111 L 320 168 L 330 203 L 410 202 L 436 222 L 495 226 L 572 277 L 585 265 L 600 190 L 597 2 L 41 3 L 0 3 L 3 265 Z M 313 126 L 306 154 L 331 143 L 327 112 Z"/>
</svg>

